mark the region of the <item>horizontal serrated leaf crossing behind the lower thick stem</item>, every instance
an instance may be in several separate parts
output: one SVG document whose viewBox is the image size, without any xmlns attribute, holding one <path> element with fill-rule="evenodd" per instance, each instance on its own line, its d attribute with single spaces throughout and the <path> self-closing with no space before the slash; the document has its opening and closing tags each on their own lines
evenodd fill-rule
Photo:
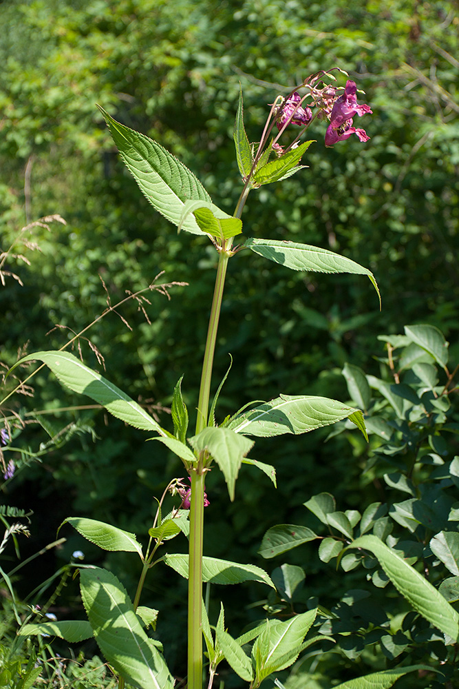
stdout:
<svg viewBox="0 0 459 689">
<path fill-rule="evenodd" d="M 180 553 L 164 555 L 164 562 L 184 579 L 188 579 L 188 555 Z M 242 582 L 260 582 L 275 588 L 270 577 L 260 567 L 251 564 L 239 564 L 216 557 L 202 558 L 202 581 L 211 584 L 241 584 Z"/>
</svg>

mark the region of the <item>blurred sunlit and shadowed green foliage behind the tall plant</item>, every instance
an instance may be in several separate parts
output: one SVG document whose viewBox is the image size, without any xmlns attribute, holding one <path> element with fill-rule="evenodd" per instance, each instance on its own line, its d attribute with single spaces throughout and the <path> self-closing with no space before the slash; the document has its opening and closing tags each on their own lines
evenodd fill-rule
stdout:
<svg viewBox="0 0 459 689">
<path fill-rule="evenodd" d="M 107 297 L 99 275 L 116 303 L 126 289 L 142 289 L 164 271 L 160 281 L 189 286 L 171 288 L 171 301 L 149 295 L 151 325 L 133 300 L 120 309 L 132 330 L 112 313 L 88 336 L 105 357 L 107 378 L 135 399 L 167 407 L 184 373 L 192 411 L 215 252 L 206 240 L 177 235 L 153 211 L 118 158 L 95 103 L 162 143 L 232 212 L 240 192 L 232 140 L 239 81 L 246 130 L 256 141 L 277 93 L 334 66 L 365 90 L 361 100 L 374 114 L 362 126 L 371 141 L 325 150 L 325 126 L 315 125 L 310 135 L 317 143 L 303 160 L 310 169 L 253 192 L 244 227 L 253 236 L 317 244 L 367 266 L 378 280 L 383 310 L 358 276 L 295 274 L 245 252 L 237 256 L 217 346 L 215 387 L 228 352 L 234 358 L 220 418 L 248 400 L 279 393 L 345 400 L 342 365 L 378 373 L 376 335 L 401 332 L 406 323 L 437 325 L 456 342 L 456 3 L 10 0 L 1 14 L 1 250 L 41 216 L 59 213 L 67 221 L 52 224 L 51 232 L 34 228 L 31 239 L 41 252 L 21 247 L 31 265 L 12 265 L 24 286 L 8 279 L 0 289 L 3 362 L 12 364 L 26 342 L 28 352 L 57 349 L 68 335 L 52 330 L 55 325 L 79 331 L 96 318 Z M 82 347 L 85 362 L 96 367 L 92 350 L 85 342 Z M 82 403 L 48 373 L 36 376 L 34 387 L 36 397 L 16 399 L 15 409 Z M 166 412 L 160 414 L 167 424 Z M 152 496 L 182 473 L 178 460 L 116 420 L 105 425 L 100 412 L 59 413 L 51 423 L 60 429 L 77 417 L 94 426 L 98 440 L 74 439 L 42 464 L 24 467 L 7 502 L 35 508 L 46 542 L 71 513 L 146 533 Z M 323 445 L 323 437 L 257 442 L 254 457 L 277 468 L 277 492 L 245 468 L 231 504 L 221 475 L 209 477 L 209 555 L 256 557 L 266 528 L 273 520 L 295 523 L 297 508 L 312 493 L 332 490 L 341 504 L 361 510 L 376 499 L 376 487 L 361 476 L 359 452 L 353 462 L 343 438 Z M 46 439 L 34 425 L 18 442 L 37 451 Z M 70 538 L 62 557 L 75 543 Z M 111 559 L 111 566 L 132 586 L 136 573 L 124 559 Z M 317 566 L 313 561 L 308 575 Z M 181 582 L 175 590 L 160 579 L 151 586 L 153 605 L 159 595 L 173 608 L 182 595 Z M 259 591 L 251 595 L 257 599 Z M 177 638 L 183 613 L 174 614 L 174 624 L 162 629 L 165 647 Z"/>
</svg>

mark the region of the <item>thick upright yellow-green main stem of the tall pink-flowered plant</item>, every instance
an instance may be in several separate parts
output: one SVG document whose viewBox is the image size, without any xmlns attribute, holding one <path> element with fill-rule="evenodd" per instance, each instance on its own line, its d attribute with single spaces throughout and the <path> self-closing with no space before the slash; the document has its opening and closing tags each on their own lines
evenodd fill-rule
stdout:
<svg viewBox="0 0 459 689">
<path fill-rule="evenodd" d="M 246 203 L 249 187 L 246 185 L 237 202 L 234 216 L 240 218 Z M 209 413 L 209 396 L 211 392 L 211 378 L 215 342 L 217 341 L 218 322 L 222 309 L 223 291 L 231 256 L 233 239 L 224 243 L 218 258 L 217 276 L 207 330 L 204 361 L 202 362 L 201 385 L 198 400 L 198 419 L 196 420 L 196 435 L 207 426 Z M 202 689 L 202 544 L 204 540 L 204 477 L 205 468 L 203 457 L 198 460 L 198 466 L 191 472 L 191 506 L 190 506 L 190 536 L 189 536 L 189 580 L 188 580 L 188 689 Z"/>
</svg>

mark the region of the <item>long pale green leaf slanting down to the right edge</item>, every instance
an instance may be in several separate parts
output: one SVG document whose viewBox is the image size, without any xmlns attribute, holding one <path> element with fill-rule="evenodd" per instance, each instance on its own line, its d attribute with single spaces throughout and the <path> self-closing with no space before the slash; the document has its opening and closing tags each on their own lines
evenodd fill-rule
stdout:
<svg viewBox="0 0 459 689">
<path fill-rule="evenodd" d="M 458 640 L 459 614 L 423 575 L 407 564 L 392 548 L 371 535 L 357 538 L 348 547 L 365 548 L 373 553 L 387 577 L 409 604 L 453 641 Z"/>
</svg>

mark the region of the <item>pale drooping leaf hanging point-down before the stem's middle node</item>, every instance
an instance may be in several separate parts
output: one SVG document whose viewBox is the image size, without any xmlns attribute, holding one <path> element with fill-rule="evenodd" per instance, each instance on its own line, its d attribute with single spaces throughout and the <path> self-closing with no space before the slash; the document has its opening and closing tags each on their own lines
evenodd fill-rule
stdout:
<svg viewBox="0 0 459 689">
<path fill-rule="evenodd" d="M 243 458 L 253 447 L 253 440 L 227 428 L 209 426 L 199 435 L 189 438 L 189 443 L 197 452 L 208 451 L 217 462 L 225 477 L 229 496 L 234 500 L 237 474 Z"/>
</svg>

